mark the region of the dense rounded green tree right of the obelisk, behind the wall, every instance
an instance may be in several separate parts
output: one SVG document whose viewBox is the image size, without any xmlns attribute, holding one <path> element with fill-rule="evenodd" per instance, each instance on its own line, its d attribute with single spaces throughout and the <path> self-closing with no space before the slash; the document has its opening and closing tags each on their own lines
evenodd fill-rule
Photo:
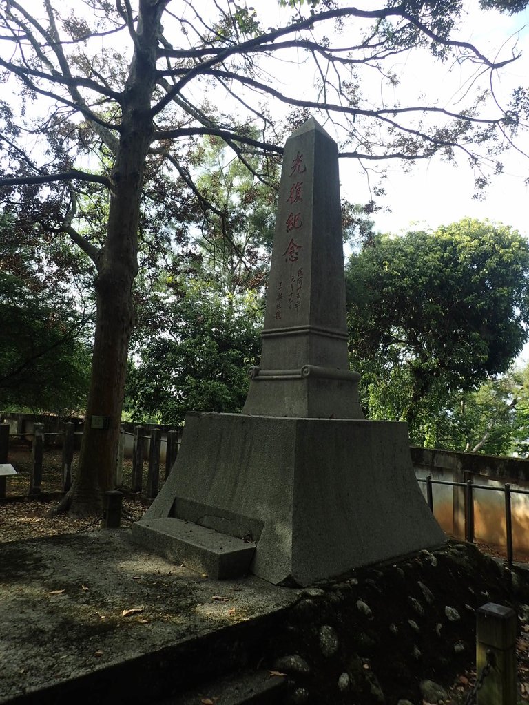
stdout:
<svg viewBox="0 0 529 705">
<path fill-rule="evenodd" d="M 529 244 L 463 219 L 434 233 L 379 235 L 346 271 L 353 367 L 372 418 L 435 443 L 458 393 L 506 372 L 528 338 Z"/>
</svg>

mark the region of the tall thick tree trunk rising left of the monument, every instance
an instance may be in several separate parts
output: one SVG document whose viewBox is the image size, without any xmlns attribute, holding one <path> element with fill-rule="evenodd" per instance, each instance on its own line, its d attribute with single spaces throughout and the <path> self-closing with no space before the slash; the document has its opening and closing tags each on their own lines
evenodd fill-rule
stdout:
<svg viewBox="0 0 529 705">
<path fill-rule="evenodd" d="M 97 262 L 97 317 L 92 379 L 75 482 L 63 508 L 76 516 L 100 514 L 103 492 L 114 489 L 128 343 L 133 327 L 133 283 L 138 272 L 138 223 L 152 136 L 160 18 L 166 3 L 141 0 L 136 43 L 121 101 L 122 119 L 107 238 Z M 98 428 L 94 417 L 108 419 Z M 107 424 L 105 424 L 107 425 Z"/>
</svg>

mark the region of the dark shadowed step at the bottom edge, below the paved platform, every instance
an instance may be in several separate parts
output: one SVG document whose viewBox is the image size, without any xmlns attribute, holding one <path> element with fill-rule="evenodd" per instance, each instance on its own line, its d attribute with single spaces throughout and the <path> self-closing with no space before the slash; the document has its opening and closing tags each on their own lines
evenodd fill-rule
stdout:
<svg viewBox="0 0 529 705">
<path fill-rule="evenodd" d="M 281 705 L 286 700 L 286 678 L 267 670 L 245 671 L 200 685 L 156 705 Z"/>
</svg>

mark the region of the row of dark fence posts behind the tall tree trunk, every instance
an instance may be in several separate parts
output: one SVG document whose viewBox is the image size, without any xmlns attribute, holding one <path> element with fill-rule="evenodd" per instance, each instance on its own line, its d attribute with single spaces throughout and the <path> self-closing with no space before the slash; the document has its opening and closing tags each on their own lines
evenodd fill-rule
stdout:
<svg viewBox="0 0 529 705">
<path fill-rule="evenodd" d="M 31 462 L 30 479 L 28 486 L 28 496 L 37 496 L 42 489 L 42 476 L 44 467 L 44 443 L 46 436 L 59 436 L 62 444 L 61 460 L 61 489 L 66 492 L 72 484 L 72 464 L 75 448 L 75 436 L 82 436 L 82 432 L 75 432 L 72 422 L 66 422 L 62 433 L 44 433 L 43 424 L 35 423 L 32 433 L 12 434 L 9 424 L 0 424 L 0 464 L 9 462 L 9 439 L 22 437 L 30 439 L 31 442 Z M 148 498 L 154 498 L 158 494 L 160 479 L 160 456 L 162 443 L 165 443 L 164 477 L 169 475 L 171 467 L 178 455 L 179 432 L 176 430 L 167 431 L 165 438 L 162 438 L 160 429 L 147 429 L 144 426 L 136 426 L 134 433 L 127 433 L 121 427 L 118 443 L 118 454 L 116 458 L 116 469 L 114 485 L 117 488 L 123 486 L 123 455 L 125 448 L 125 437 L 133 436 L 133 468 L 130 481 L 130 491 L 133 493 L 142 492 Z M 147 461 L 147 484 L 144 487 L 144 464 Z M 6 496 L 6 477 L 0 477 L 0 498 Z"/>
</svg>

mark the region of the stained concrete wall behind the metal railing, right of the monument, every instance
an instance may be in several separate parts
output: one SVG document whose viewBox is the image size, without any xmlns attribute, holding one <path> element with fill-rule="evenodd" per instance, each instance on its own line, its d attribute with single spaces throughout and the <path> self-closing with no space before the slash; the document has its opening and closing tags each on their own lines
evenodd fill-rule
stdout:
<svg viewBox="0 0 529 705">
<path fill-rule="evenodd" d="M 466 482 L 497 487 L 499 491 L 475 489 L 474 535 L 478 541 L 504 548 L 506 545 L 504 484 L 511 489 L 529 489 L 529 460 L 499 458 L 494 455 L 455 453 L 432 448 L 411 448 L 418 478 Z M 426 497 L 426 484 L 420 488 Z M 434 515 L 444 531 L 452 536 L 465 535 L 465 501 L 463 487 L 433 486 Z M 515 558 L 529 556 L 529 495 L 511 496 L 513 549 Z"/>
</svg>

